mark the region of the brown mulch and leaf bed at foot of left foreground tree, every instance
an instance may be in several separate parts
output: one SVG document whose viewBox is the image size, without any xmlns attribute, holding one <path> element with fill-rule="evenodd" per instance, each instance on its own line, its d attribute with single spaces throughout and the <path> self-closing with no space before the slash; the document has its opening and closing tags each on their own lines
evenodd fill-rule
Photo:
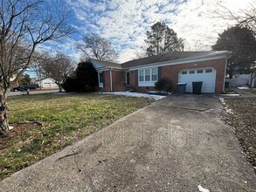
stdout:
<svg viewBox="0 0 256 192">
<path fill-rule="evenodd" d="M 38 123 L 18 123 L 10 126 L 14 128 L 8 132 L 8 135 L 0 137 L 0 154 L 8 150 L 9 147 L 22 146 L 28 143 L 30 140 L 22 140 L 24 134 L 31 129 L 41 128 Z"/>
</svg>

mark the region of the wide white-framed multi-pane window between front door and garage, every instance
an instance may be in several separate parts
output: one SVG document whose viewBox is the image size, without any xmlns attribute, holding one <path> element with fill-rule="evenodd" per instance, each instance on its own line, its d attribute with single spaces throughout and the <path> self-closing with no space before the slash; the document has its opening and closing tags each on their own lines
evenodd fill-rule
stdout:
<svg viewBox="0 0 256 192">
<path fill-rule="evenodd" d="M 138 86 L 155 86 L 157 80 L 157 68 L 148 68 L 138 71 Z"/>
</svg>

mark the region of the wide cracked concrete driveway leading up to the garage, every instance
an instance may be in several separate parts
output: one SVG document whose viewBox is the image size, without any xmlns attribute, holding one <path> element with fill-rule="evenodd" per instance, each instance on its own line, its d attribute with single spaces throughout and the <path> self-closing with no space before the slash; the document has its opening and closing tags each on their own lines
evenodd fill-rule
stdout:
<svg viewBox="0 0 256 192">
<path fill-rule="evenodd" d="M 217 97 L 170 96 L 0 182 L 2 191 L 255 191 Z"/>
</svg>

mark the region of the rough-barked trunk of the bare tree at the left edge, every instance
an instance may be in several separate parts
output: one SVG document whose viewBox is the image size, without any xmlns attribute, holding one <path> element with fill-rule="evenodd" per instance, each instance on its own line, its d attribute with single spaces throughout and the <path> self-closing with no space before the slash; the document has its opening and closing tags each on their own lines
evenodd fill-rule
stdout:
<svg viewBox="0 0 256 192">
<path fill-rule="evenodd" d="M 7 91 L 0 94 L 0 136 L 6 135 L 9 130 Z"/>
</svg>

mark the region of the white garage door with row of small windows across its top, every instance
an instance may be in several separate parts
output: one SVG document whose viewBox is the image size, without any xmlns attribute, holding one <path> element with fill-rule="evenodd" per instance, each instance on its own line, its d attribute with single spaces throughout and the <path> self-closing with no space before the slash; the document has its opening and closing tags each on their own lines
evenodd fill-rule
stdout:
<svg viewBox="0 0 256 192">
<path fill-rule="evenodd" d="M 187 83 L 186 92 L 192 93 L 192 82 L 203 81 L 202 93 L 215 93 L 216 70 L 213 68 L 187 69 L 178 75 L 179 83 Z"/>
</svg>

